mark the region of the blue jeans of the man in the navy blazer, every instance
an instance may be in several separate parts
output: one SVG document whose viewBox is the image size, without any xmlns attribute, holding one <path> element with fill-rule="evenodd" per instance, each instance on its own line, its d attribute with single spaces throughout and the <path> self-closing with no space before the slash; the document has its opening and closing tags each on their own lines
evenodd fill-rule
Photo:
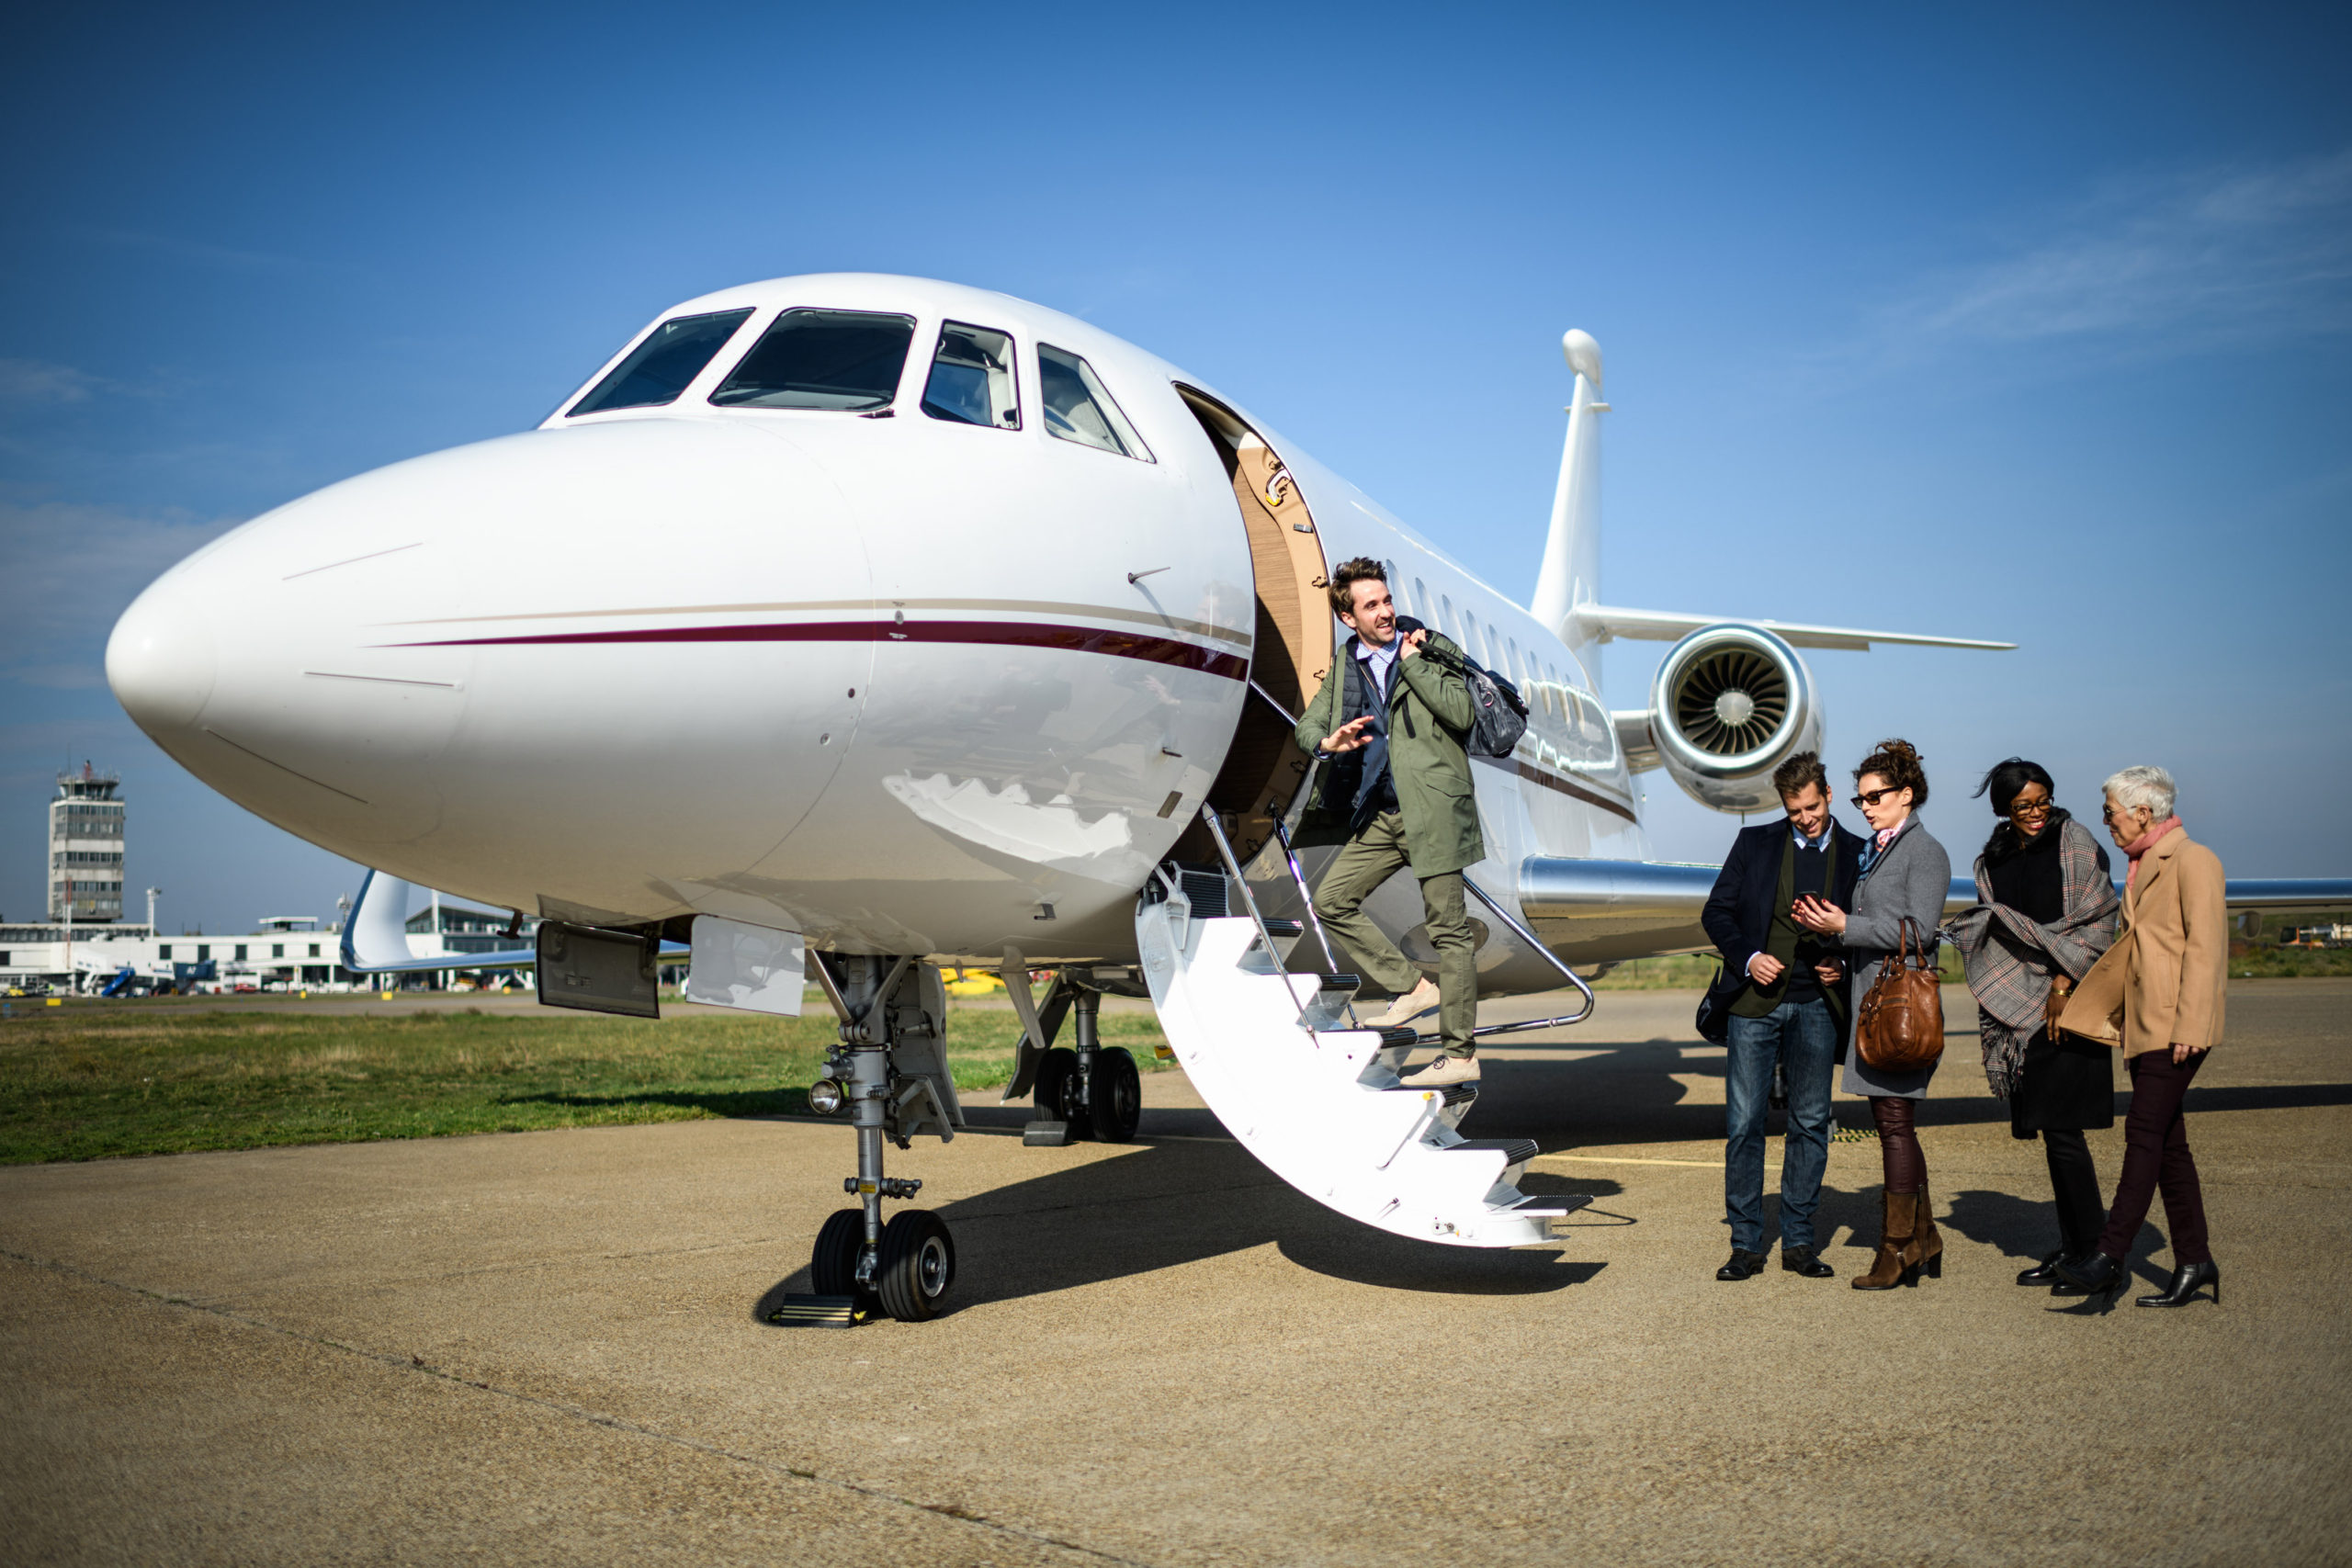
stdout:
<svg viewBox="0 0 2352 1568">
<path fill-rule="evenodd" d="M 1783 1001 L 1762 1018 L 1733 1013 L 1724 1041 L 1724 1218 L 1731 1246 L 1764 1251 L 1764 1110 L 1778 1058 L 1788 1081 L 1788 1140 L 1780 1150 L 1780 1246 L 1813 1246 L 1820 1173 L 1830 1164 L 1830 1072 L 1837 1016 L 1820 997 Z"/>
</svg>

